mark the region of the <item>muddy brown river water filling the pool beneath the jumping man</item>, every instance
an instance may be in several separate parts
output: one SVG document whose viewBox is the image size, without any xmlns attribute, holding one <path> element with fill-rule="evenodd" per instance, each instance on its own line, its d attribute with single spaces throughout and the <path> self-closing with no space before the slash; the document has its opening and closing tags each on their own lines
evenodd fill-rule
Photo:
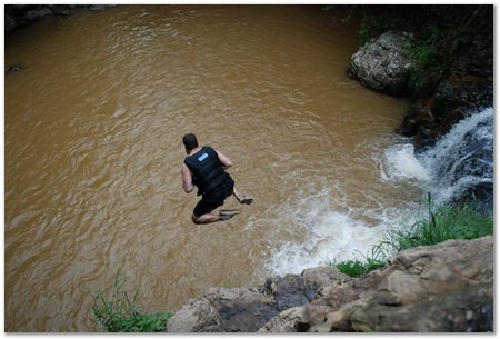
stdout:
<svg viewBox="0 0 500 339">
<path fill-rule="evenodd" d="M 123 6 L 6 42 L 6 330 L 94 331 L 118 269 L 150 310 L 359 257 L 420 198 L 384 151 L 407 102 L 347 77 L 357 22 L 299 6 Z M 256 198 L 196 226 L 181 138 Z M 404 161 L 404 159 L 402 160 Z M 397 179 L 397 178 L 396 178 Z"/>
</svg>

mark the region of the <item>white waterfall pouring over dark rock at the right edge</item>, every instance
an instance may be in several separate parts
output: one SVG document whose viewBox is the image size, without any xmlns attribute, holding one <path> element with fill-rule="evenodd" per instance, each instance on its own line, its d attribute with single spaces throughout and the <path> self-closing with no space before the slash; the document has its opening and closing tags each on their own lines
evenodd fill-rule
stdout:
<svg viewBox="0 0 500 339">
<path fill-rule="evenodd" d="M 381 177 L 413 180 L 431 192 L 437 203 L 479 196 L 492 203 L 493 109 L 476 112 L 454 124 L 432 148 L 414 154 L 413 146 L 386 151 Z"/>
</svg>

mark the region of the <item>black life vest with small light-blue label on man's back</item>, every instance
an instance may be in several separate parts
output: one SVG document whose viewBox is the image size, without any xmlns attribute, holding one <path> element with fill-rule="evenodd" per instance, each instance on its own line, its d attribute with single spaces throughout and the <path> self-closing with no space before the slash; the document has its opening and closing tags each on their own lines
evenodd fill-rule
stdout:
<svg viewBox="0 0 500 339">
<path fill-rule="evenodd" d="M 221 185 L 228 173 L 222 169 L 219 156 L 210 146 L 203 146 L 201 150 L 186 157 L 186 166 L 191 170 L 193 183 L 198 187 L 198 195 L 206 195 Z"/>
</svg>

